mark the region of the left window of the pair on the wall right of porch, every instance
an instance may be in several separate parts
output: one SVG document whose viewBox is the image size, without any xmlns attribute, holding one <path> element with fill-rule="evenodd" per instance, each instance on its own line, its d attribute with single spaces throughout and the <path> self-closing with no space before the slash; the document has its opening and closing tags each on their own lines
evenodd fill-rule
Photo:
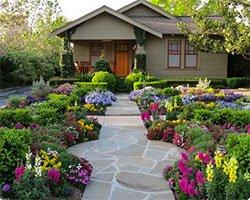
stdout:
<svg viewBox="0 0 250 200">
<path fill-rule="evenodd" d="M 168 67 L 181 67 L 181 41 L 168 41 Z"/>
</svg>

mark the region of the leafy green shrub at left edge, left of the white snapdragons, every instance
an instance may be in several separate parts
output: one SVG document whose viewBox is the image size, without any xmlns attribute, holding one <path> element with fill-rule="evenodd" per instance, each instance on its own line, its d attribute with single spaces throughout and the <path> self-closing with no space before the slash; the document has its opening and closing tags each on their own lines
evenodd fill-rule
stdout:
<svg viewBox="0 0 250 200">
<path fill-rule="evenodd" d="M 14 178 L 14 170 L 25 159 L 31 144 L 27 129 L 0 129 L 0 185 Z"/>
</svg>

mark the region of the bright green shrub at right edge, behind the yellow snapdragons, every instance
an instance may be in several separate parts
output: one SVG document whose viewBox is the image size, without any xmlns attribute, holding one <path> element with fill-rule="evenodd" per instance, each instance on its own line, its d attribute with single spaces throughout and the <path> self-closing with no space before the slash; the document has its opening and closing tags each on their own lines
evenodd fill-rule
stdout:
<svg viewBox="0 0 250 200">
<path fill-rule="evenodd" d="M 239 162 L 242 173 L 250 170 L 250 136 L 247 134 L 230 134 L 226 141 L 229 155 Z"/>
</svg>

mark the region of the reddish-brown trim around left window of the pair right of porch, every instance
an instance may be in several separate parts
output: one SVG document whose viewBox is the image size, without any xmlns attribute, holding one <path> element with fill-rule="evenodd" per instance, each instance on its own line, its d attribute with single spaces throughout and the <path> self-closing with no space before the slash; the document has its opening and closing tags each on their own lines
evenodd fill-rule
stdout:
<svg viewBox="0 0 250 200">
<path fill-rule="evenodd" d="M 178 44 L 177 50 L 171 50 L 173 43 Z M 180 39 L 170 39 L 168 40 L 168 59 L 167 59 L 167 67 L 171 69 L 180 69 L 181 68 L 181 57 L 182 57 L 182 41 Z M 169 66 L 169 57 L 170 55 L 179 55 L 179 66 Z"/>
</svg>

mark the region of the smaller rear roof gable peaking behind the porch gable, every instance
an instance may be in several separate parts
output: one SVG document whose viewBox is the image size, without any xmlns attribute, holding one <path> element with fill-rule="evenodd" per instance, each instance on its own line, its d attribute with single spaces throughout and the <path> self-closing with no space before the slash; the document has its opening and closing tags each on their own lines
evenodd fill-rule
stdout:
<svg viewBox="0 0 250 200">
<path fill-rule="evenodd" d="M 177 17 L 168 14 L 165 10 L 149 3 L 145 0 L 137 0 L 118 10 L 118 12 L 127 16 L 143 16 L 143 17 L 166 17 L 178 20 Z"/>
</svg>

